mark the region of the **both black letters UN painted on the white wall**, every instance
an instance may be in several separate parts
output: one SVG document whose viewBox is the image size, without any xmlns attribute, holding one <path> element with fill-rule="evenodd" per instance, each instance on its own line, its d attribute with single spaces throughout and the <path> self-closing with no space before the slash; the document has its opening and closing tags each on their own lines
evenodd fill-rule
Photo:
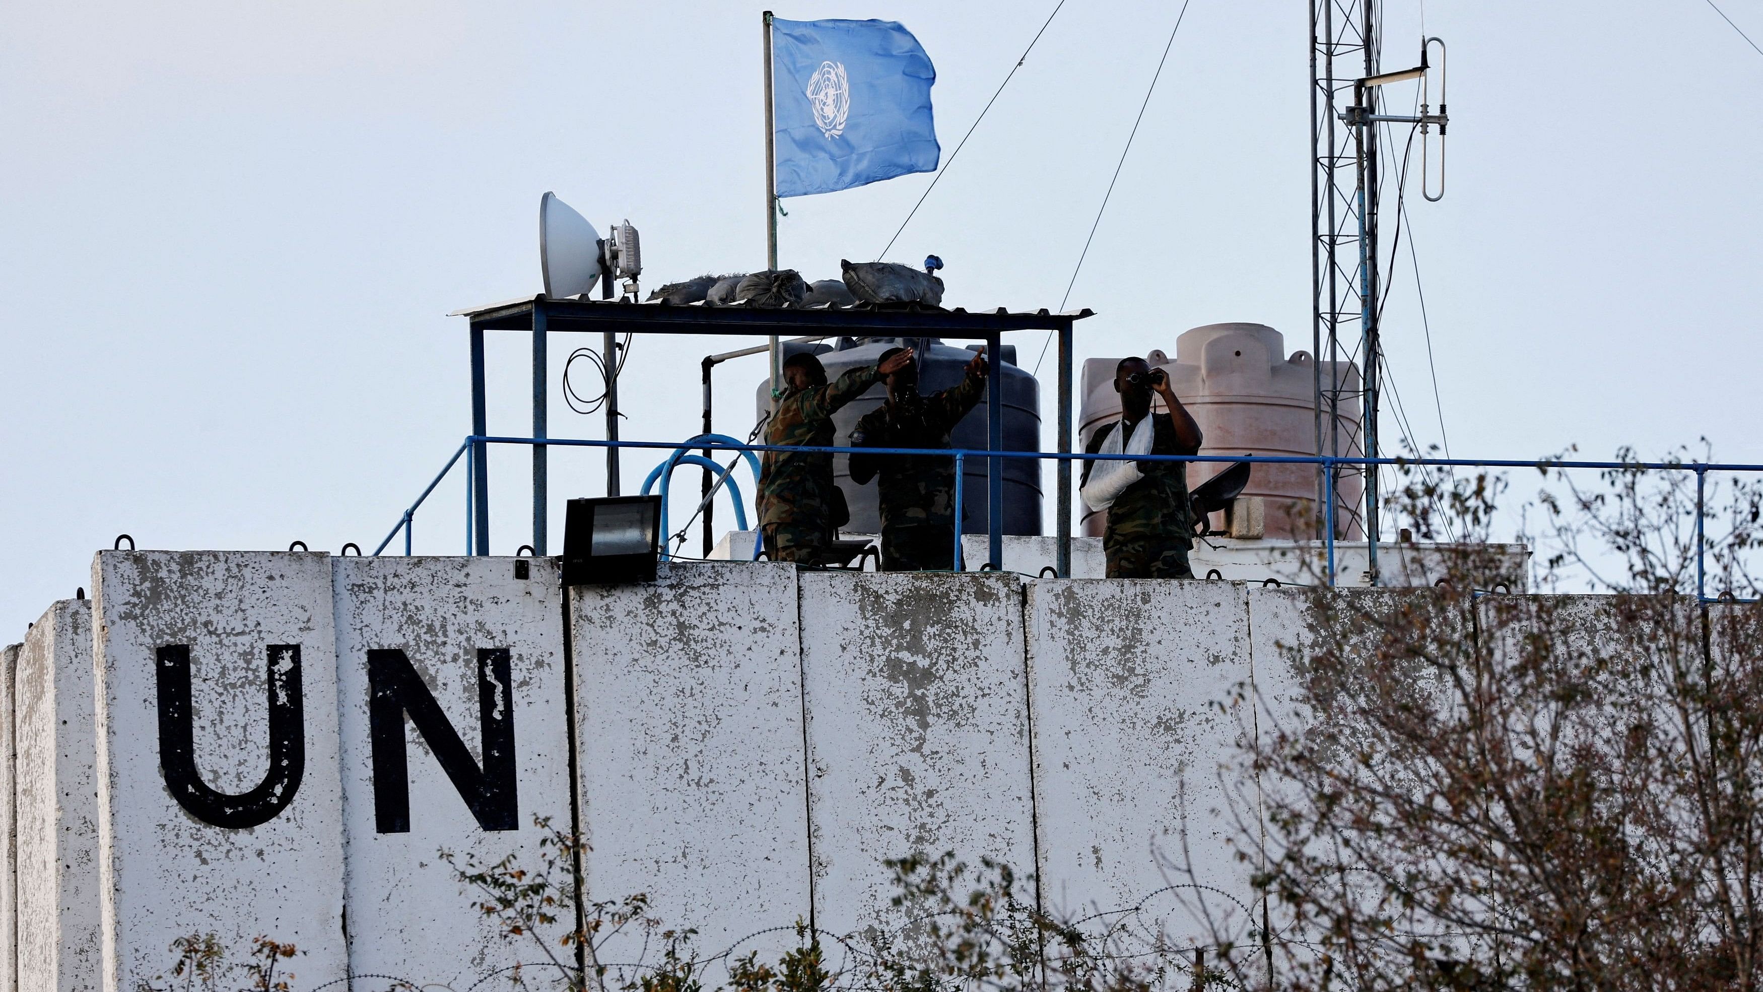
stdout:
<svg viewBox="0 0 1763 992">
<path fill-rule="evenodd" d="M 220 793 L 196 768 L 190 712 L 190 648 L 159 648 L 159 766 L 166 788 L 190 816 L 229 830 L 275 819 L 305 774 L 305 712 L 300 687 L 300 645 L 268 645 L 270 770 L 254 789 Z M 483 765 L 460 740 L 441 703 L 398 648 L 367 652 L 368 728 L 374 754 L 374 819 L 379 833 L 411 828 L 409 765 L 404 717 L 428 744 L 441 770 L 483 830 L 518 830 L 515 714 L 508 648 L 478 650 L 478 715 Z"/>
</svg>

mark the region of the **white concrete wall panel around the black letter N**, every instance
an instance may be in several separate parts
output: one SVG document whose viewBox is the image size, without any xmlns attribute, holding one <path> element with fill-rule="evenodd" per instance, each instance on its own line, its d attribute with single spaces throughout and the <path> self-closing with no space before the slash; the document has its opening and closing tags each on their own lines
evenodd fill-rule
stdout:
<svg viewBox="0 0 1763 992">
<path fill-rule="evenodd" d="M 347 832 L 349 967 L 413 983 L 465 988 L 525 980 L 545 988 L 566 978 L 547 967 L 559 946 L 568 906 L 555 927 L 502 939 L 474 907 L 485 899 L 435 855 L 448 849 L 465 869 L 513 855 L 539 865 L 534 816 L 569 828 L 569 728 L 564 705 L 562 592 L 555 559 L 331 559 L 337 617 L 337 689 L 342 700 L 342 786 Z M 480 648 L 508 648 L 517 761 L 518 830 L 483 830 L 428 742 L 404 719 L 409 832 L 377 830 L 374 754 L 368 735 L 367 652 L 400 648 L 423 677 L 460 742 L 483 768 Z M 568 862 L 564 862 L 568 881 Z M 543 948 L 534 943 L 543 941 Z M 495 973 L 495 978 L 490 978 Z"/>
</svg>

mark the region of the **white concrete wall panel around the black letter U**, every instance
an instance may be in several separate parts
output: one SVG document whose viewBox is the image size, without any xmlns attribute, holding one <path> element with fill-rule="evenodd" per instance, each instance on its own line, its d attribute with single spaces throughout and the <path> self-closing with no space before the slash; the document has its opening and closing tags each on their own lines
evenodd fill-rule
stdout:
<svg viewBox="0 0 1763 992">
<path fill-rule="evenodd" d="M 180 936 L 293 943 L 312 988 L 347 974 L 331 569 L 321 553 L 100 552 L 95 666 L 104 990 L 166 974 Z M 305 761 L 279 816 L 190 816 L 160 772 L 157 648 L 189 645 L 201 781 L 247 793 L 268 766 L 266 645 L 300 645 Z"/>
</svg>

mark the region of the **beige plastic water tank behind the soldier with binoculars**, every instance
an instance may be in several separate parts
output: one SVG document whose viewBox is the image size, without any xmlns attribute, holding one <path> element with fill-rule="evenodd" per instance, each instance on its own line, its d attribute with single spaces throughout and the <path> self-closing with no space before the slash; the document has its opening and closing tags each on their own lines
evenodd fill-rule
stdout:
<svg viewBox="0 0 1763 992">
<path fill-rule="evenodd" d="M 1120 393 L 1114 391 L 1120 358 L 1084 361 L 1079 448 L 1104 423 L 1120 418 Z M 1315 455 L 1315 361 L 1303 351 L 1287 358 L 1280 331 L 1266 324 L 1206 324 L 1176 338 L 1174 361 L 1162 351 L 1144 358 L 1169 374 L 1176 396 L 1206 433 L 1201 455 Z M 1342 437 L 1354 440 L 1342 455 L 1358 455 L 1359 370 L 1347 361 L 1324 361 L 1320 372 L 1324 389 L 1338 381 L 1349 393 L 1342 396 L 1338 416 Z M 1155 409 L 1162 411 L 1162 402 Z M 1222 462 L 1195 462 L 1188 467 L 1188 486 L 1220 470 Z M 1336 492 L 1336 536 L 1354 539 L 1359 534 L 1358 525 L 1349 523 L 1349 507 L 1359 506 L 1363 486 L 1347 474 Z M 1268 537 L 1315 536 L 1315 523 L 1306 523 L 1315 520 L 1317 506 L 1313 465 L 1255 465 L 1243 495 L 1266 499 Z M 1084 534 L 1102 534 L 1105 516 L 1082 509 Z"/>
</svg>

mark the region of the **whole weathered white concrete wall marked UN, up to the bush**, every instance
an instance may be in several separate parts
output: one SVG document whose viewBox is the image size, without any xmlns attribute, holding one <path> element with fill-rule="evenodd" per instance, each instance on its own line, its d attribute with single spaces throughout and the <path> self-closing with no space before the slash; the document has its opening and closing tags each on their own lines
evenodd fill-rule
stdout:
<svg viewBox="0 0 1763 992">
<path fill-rule="evenodd" d="M 776 960 L 799 918 L 899 936 L 883 862 L 943 851 L 1035 872 L 1023 895 L 1134 939 L 1201 939 L 1199 893 L 1215 913 L 1252 911 L 1253 865 L 1225 839 L 1253 825 L 1259 784 L 1222 768 L 1243 735 L 1292 719 L 1282 645 L 1308 629 L 1303 590 L 1227 581 L 682 562 L 652 585 L 571 590 L 566 618 L 548 559 L 104 552 L 95 573 L 95 631 L 79 626 L 86 606 L 58 604 L 19 661 L 7 795 L 18 828 L 46 837 L 18 855 L 19 897 L 53 907 L 28 913 L 28 939 L 56 941 L 21 955 L 55 957 L 39 987 L 106 992 L 138 992 L 167 973 L 173 939 L 206 932 L 234 960 L 257 936 L 294 943 L 303 988 L 351 973 L 462 987 L 517 962 L 550 983 L 541 946 L 502 941 L 437 856 L 531 870 L 532 816 L 578 816 L 591 902 L 647 893 L 663 927 L 696 929 L 695 953 L 718 962 Z M 272 645 L 300 647 L 298 694 Z M 480 654 L 504 648 L 506 692 Z M 409 673 L 381 703 L 377 652 L 402 652 Z M 183 777 L 182 745 L 162 737 L 180 726 L 162 707 L 178 671 Z M 270 714 L 287 700 L 298 788 L 259 796 L 261 819 L 229 819 L 291 766 L 286 751 L 272 765 Z M 511 768 L 511 811 L 488 798 L 485 747 L 508 721 L 495 768 Z M 402 744 L 395 775 L 376 726 L 381 749 Z M 388 789 L 407 796 L 407 821 L 386 819 Z M 95 858 L 83 874 L 81 842 Z M 1188 885 L 1188 858 L 1206 888 Z M 81 920 L 99 939 L 79 937 Z M 90 948 L 99 964 L 79 966 Z M 642 953 L 626 934 L 603 960 Z M 647 953 L 654 964 L 654 941 Z"/>
</svg>

